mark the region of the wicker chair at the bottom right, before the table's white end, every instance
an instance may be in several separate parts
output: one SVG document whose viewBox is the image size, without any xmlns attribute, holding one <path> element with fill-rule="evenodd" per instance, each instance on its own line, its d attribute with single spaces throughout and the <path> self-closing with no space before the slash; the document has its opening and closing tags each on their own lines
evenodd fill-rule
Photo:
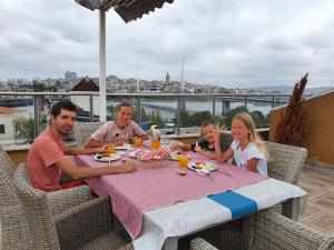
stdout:
<svg viewBox="0 0 334 250">
<path fill-rule="evenodd" d="M 250 216 L 254 223 L 249 231 L 249 250 L 334 250 L 334 237 L 325 238 L 314 230 L 274 211 L 262 211 Z M 218 249 L 225 249 L 218 248 Z M 217 250 L 202 238 L 190 243 L 190 250 Z"/>
</svg>

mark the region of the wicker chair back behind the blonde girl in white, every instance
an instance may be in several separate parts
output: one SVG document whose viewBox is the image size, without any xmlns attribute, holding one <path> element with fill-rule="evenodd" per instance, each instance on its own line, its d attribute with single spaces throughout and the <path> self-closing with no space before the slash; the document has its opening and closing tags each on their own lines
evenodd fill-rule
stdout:
<svg viewBox="0 0 334 250">
<path fill-rule="evenodd" d="M 264 142 L 268 152 L 268 176 L 296 184 L 307 157 L 305 148 Z"/>
</svg>

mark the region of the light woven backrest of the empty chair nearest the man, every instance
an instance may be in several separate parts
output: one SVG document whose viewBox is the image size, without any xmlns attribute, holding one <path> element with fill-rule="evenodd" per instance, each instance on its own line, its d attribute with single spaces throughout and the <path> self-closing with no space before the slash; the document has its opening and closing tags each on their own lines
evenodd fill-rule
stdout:
<svg viewBox="0 0 334 250">
<path fill-rule="evenodd" d="M 47 193 L 33 189 L 27 181 L 24 168 L 14 173 L 16 190 L 27 217 L 29 232 L 36 250 L 60 250 Z"/>
</svg>

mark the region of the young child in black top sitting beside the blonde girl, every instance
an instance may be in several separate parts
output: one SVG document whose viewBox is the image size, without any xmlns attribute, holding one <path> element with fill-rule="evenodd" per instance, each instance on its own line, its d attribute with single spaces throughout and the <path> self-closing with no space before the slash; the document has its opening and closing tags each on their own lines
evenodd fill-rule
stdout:
<svg viewBox="0 0 334 250">
<path fill-rule="evenodd" d="M 210 159 L 216 159 L 214 131 L 215 122 L 210 120 L 204 121 L 200 129 L 200 137 L 204 140 L 197 141 L 195 144 L 191 144 L 191 150 L 202 153 Z"/>
</svg>

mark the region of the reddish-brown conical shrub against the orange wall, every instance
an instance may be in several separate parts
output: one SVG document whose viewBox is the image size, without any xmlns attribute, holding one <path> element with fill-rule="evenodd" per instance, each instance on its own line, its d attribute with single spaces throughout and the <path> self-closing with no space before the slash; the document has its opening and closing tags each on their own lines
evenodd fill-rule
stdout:
<svg viewBox="0 0 334 250">
<path fill-rule="evenodd" d="M 307 132 L 304 119 L 305 109 L 302 107 L 305 101 L 302 96 L 307 83 L 307 76 L 308 73 L 299 82 L 295 83 L 288 104 L 281 116 L 275 133 L 275 141 L 278 143 L 295 146 Z"/>
</svg>

